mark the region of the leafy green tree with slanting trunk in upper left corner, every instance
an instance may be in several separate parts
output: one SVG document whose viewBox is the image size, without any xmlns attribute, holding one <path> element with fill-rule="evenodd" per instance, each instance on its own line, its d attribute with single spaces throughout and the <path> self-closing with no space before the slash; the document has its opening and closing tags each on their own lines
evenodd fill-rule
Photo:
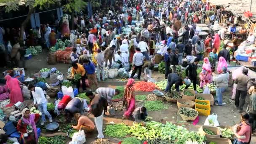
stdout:
<svg viewBox="0 0 256 144">
<path fill-rule="evenodd" d="M 30 20 L 31 14 L 34 12 L 35 8 L 43 9 L 48 8 L 50 5 L 59 2 L 59 0 L 0 0 L 0 3 L 5 4 L 5 11 L 19 11 L 19 6 L 24 5 L 29 8 L 26 19 L 22 22 L 20 27 L 20 37 L 19 40 L 23 43 L 23 32 L 26 28 L 27 23 Z M 64 11 L 78 12 L 83 10 L 87 5 L 83 0 L 67 0 L 67 4 L 64 5 Z"/>
</svg>

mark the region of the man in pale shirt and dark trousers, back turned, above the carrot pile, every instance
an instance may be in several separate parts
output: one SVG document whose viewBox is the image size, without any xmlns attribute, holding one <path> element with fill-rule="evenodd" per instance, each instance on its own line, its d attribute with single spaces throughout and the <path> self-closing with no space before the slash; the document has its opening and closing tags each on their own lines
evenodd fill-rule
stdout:
<svg viewBox="0 0 256 144">
<path fill-rule="evenodd" d="M 136 74 L 137 69 L 139 69 L 138 79 L 141 78 L 141 69 L 143 66 L 144 56 L 141 53 L 140 48 L 136 48 L 136 53 L 133 55 L 133 71 L 131 73 L 131 78 Z"/>
</svg>

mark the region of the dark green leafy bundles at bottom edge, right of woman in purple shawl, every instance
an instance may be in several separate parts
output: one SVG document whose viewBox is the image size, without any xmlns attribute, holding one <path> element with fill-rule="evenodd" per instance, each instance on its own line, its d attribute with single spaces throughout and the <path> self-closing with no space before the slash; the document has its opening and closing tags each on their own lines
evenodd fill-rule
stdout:
<svg viewBox="0 0 256 144">
<path fill-rule="evenodd" d="M 38 139 L 38 144 L 66 144 L 65 136 L 53 136 L 53 137 L 44 137 L 40 136 Z"/>
</svg>

